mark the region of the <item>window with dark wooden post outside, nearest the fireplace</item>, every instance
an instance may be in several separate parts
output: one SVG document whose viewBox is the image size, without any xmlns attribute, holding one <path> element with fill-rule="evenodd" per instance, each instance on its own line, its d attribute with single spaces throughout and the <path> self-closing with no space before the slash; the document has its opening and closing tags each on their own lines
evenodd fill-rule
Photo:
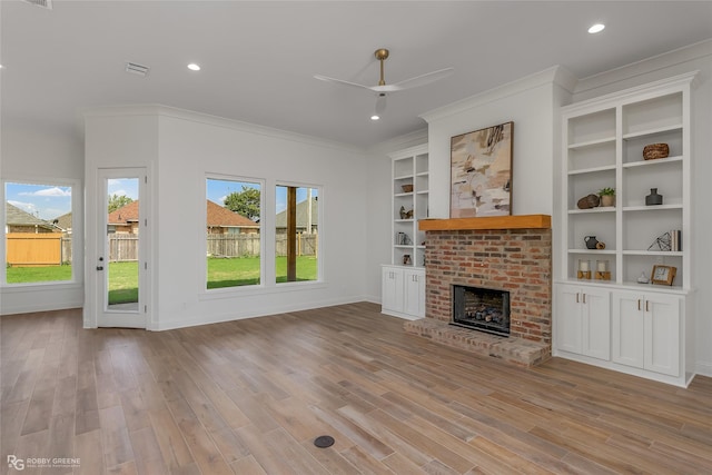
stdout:
<svg viewBox="0 0 712 475">
<path fill-rule="evenodd" d="M 319 190 L 278 185 L 276 194 L 276 280 L 318 280 Z"/>
</svg>

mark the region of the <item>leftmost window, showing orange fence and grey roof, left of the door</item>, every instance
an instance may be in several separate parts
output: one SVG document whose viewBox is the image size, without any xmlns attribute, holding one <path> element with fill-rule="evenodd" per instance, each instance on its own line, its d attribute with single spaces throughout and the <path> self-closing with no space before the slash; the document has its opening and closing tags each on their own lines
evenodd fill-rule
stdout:
<svg viewBox="0 0 712 475">
<path fill-rule="evenodd" d="M 72 280 L 71 198 L 71 185 L 4 181 L 7 284 Z"/>
</svg>

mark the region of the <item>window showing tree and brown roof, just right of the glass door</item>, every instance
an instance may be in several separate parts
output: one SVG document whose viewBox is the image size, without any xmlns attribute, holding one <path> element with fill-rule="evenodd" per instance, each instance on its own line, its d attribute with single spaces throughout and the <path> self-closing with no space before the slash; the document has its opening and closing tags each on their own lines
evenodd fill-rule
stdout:
<svg viewBox="0 0 712 475">
<path fill-rule="evenodd" d="M 208 289 L 260 284 L 261 189 L 253 180 L 207 179 Z"/>
</svg>

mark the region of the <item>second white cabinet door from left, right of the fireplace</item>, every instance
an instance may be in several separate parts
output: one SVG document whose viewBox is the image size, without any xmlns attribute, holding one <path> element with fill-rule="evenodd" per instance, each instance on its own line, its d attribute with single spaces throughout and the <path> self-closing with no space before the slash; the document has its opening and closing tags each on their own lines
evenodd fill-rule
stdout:
<svg viewBox="0 0 712 475">
<path fill-rule="evenodd" d="M 586 356 L 611 359 L 611 297 L 607 290 L 581 289 L 582 350 Z"/>
</svg>

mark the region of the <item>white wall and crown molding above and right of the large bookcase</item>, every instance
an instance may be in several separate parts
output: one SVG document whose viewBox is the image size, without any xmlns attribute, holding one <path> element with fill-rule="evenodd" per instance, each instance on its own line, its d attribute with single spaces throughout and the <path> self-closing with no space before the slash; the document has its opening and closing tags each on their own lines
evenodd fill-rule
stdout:
<svg viewBox="0 0 712 475">
<path fill-rule="evenodd" d="M 712 218 L 710 217 L 710 178 L 712 178 L 712 40 L 646 61 L 578 81 L 574 101 L 670 78 L 684 72 L 699 75 L 692 85 L 692 269 L 696 324 L 698 374 L 712 376 Z"/>
</svg>

